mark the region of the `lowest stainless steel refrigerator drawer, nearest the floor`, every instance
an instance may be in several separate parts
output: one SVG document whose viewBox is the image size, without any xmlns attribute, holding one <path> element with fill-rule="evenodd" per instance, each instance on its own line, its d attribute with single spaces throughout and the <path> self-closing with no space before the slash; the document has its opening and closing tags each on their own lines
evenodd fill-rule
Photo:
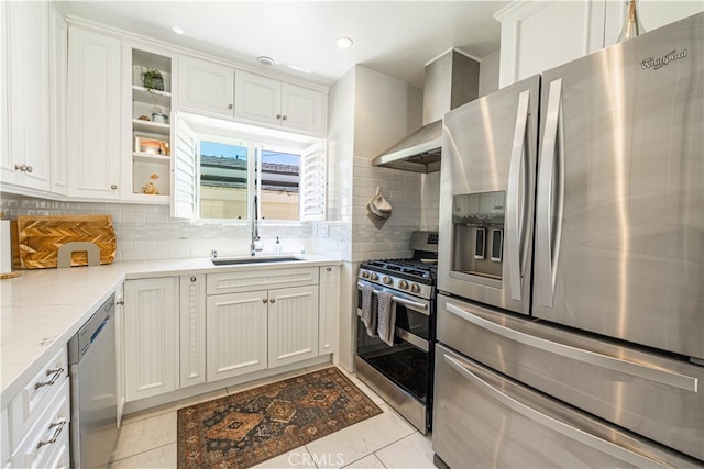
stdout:
<svg viewBox="0 0 704 469">
<path fill-rule="evenodd" d="M 501 377 L 449 348 L 436 353 L 432 448 L 460 467 L 697 467 Z"/>
</svg>

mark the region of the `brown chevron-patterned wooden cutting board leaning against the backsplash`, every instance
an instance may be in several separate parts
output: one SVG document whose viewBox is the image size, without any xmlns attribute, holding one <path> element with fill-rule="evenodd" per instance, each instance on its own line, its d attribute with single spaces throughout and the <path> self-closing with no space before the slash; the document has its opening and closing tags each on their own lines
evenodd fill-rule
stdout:
<svg viewBox="0 0 704 469">
<path fill-rule="evenodd" d="M 110 215 L 18 216 L 18 239 L 25 269 L 55 268 L 58 248 L 66 243 L 95 243 L 100 249 L 100 264 L 112 263 L 118 249 Z M 70 265 L 87 266 L 87 253 L 73 253 Z"/>
</svg>

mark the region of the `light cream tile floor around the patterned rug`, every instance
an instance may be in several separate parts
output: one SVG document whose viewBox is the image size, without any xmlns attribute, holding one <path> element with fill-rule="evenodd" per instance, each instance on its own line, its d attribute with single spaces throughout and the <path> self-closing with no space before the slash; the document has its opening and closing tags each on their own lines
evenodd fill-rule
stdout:
<svg viewBox="0 0 704 469">
<path fill-rule="evenodd" d="M 110 468 L 175 468 L 176 411 L 178 409 L 314 370 L 315 368 L 306 368 L 130 414 L 123 421 L 116 460 Z M 383 413 L 256 467 L 435 468 L 430 435 L 421 435 L 355 375 L 342 371 L 372 398 Z"/>
</svg>

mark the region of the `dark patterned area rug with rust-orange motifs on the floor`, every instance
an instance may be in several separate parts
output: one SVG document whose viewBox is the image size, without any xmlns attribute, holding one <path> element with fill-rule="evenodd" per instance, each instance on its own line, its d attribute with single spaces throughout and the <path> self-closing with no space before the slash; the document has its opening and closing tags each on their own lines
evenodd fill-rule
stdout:
<svg viewBox="0 0 704 469">
<path fill-rule="evenodd" d="M 381 414 L 334 367 L 178 411 L 178 467 L 249 468 Z"/>
</svg>

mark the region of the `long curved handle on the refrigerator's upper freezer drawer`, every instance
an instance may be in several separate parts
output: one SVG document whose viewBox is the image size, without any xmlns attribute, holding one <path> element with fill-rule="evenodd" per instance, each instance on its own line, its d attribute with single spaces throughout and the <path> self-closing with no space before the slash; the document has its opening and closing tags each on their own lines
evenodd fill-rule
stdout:
<svg viewBox="0 0 704 469">
<path fill-rule="evenodd" d="M 483 317 L 474 315 L 451 303 L 446 304 L 446 311 L 479 327 L 482 327 L 485 331 L 492 332 L 509 340 L 514 340 L 529 347 L 544 350 L 550 354 L 556 354 L 561 357 L 572 358 L 574 360 L 593 365 L 595 367 L 606 368 L 619 373 L 647 379 L 660 384 L 680 388 L 685 391 L 698 392 L 698 380 L 696 378 L 674 373 L 667 370 L 650 368 L 632 361 L 623 360 L 620 358 L 609 357 L 607 355 L 597 354 L 594 351 L 585 350 L 583 348 L 571 347 L 569 345 L 547 340 L 535 335 L 525 334 L 522 332 L 505 327 L 501 324 L 496 324 L 492 321 L 487 321 Z"/>
</svg>

